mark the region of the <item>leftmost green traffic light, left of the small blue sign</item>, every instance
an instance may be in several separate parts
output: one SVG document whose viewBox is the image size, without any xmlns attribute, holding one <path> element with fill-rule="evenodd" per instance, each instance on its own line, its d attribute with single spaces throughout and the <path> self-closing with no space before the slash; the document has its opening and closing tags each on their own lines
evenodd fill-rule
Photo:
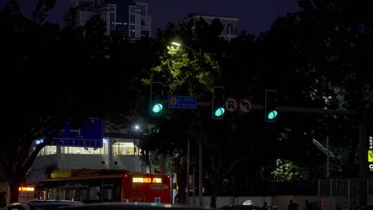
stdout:
<svg viewBox="0 0 373 210">
<path fill-rule="evenodd" d="M 153 116 L 162 115 L 163 105 L 163 84 L 160 82 L 151 83 L 150 114 Z"/>
</svg>

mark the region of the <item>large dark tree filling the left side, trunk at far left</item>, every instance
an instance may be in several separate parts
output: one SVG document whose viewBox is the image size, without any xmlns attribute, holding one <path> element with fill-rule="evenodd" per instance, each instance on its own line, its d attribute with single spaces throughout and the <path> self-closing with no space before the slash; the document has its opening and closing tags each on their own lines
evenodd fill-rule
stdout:
<svg viewBox="0 0 373 210">
<path fill-rule="evenodd" d="M 88 117 L 129 124 L 139 101 L 139 78 L 153 63 L 149 57 L 141 65 L 126 66 L 124 70 L 132 74 L 119 77 L 117 66 L 134 60 L 153 41 L 129 43 L 104 37 L 105 24 L 95 19 L 84 27 L 68 24 L 59 30 L 58 25 L 45 22 L 45 12 L 52 8 L 49 2 L 39 1 L 32 21 L 23 17 L 16 1 L 8 1 L 0 10 L 1 65 L 8 69 L 8 81 L 1 86 L 6 90 L 2 97 L 7 124 L 0 177 L 10 185 L 11 201 L 17 200 L 17 187 L 25 182 L 40 149 L 50 143 L 45 139 L 34 146 L 34 140 L 59 131 L 66 121 L 79 125 Z M 129 49 L 115 50 L 116 44 Z M 106 67 L 103 77 L 100 71 Z"/>
</svg>

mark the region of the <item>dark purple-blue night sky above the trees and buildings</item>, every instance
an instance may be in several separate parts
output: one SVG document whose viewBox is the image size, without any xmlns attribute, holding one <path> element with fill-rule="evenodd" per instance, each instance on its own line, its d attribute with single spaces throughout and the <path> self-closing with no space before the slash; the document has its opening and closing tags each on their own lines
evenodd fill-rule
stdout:
<svg viewBox="0 0 373 210">
<path fill-rule="evenodd" d="M 6 0 L 0 0 L 1 4 Z M 37 0 L 18 0 L 27 17 L 35 8 Z M 149 15 L 155 28 L 165 28 L 169 22 L 177 22 L 191 12 L 204 15 L 238 17 L 238 31 L 258 35 L 269 30 L 278 16 L 300 10 L 298 0 L 140 0 L 149 3 Z M 57 0 L 56 8 L 50 12 L 48 21 L 64 26 L 64 12 L 70 0 Z"/>
</svg>

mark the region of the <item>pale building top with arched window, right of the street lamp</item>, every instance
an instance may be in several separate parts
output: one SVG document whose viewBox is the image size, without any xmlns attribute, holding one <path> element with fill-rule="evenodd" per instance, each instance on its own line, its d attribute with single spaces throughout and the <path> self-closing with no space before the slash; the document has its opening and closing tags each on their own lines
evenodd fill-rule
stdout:
<svg viewBox="0 0 373 210">
<path fill-rule="evenodd" d="M 198 21 L 200 18 L 204 19 L 207 23 L 211 24 L 213 19 L 220 19 L 220 22 L 224 26 L 222 30 L 221 37 L 227 41 L 236 38 L 238 36 L 238 18 L 236 17 L 221 17 L 221 16 L 212 16 L 212 15 L 201 15 L 198 13 L 189 14 L 187 18 L 182 19 L 182 22 L 188 22 L 191 19 L 193 21 Z"/>
</svg>

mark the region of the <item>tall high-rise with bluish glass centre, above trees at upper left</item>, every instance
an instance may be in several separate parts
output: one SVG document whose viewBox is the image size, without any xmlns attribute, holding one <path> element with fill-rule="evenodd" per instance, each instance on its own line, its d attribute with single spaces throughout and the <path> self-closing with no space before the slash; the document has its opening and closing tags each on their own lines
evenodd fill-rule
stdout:
<svg viewBox="0 0 373 210">
<path fill-rule="evenodd" d="M 84 26 L 90 19 L 106 23 L 106 35 L 119 30 L 124 37 L 140 39 L 151 37 L 151 17 L 148 3 L 132 0 L 74 0 L 77 8 L 77 26 Z"/>
</svg>

